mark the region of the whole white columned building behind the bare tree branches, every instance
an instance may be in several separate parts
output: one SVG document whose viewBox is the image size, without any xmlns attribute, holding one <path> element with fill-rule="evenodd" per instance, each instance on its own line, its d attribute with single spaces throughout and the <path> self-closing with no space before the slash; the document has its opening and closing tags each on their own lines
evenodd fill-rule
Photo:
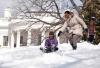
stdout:
<svg viewBox="0 0 100 68">
<path fill-rule="evenodd" d="M 35 12 L 34 14 L 36 14 Z M 43 12 L 42 12 L 43 13 Z M 56 21 L 55 18 L 50 16 L 36 16 L 41 20 L 52 22 Z M 8 46 L 11 48 L 20 46 L 39 45 L 44 38 L 45 27 L 42 22 L 34 23 L 29 22 L 33 19 L 14 19 L 11 17 L 10 9 L 5 10 L 4 18 L 0 19 L 0 46 Z M 44 27 L 43 27 L 44 25 Z M 41 30 L 40 28 L 43 27 Z"/>
</svg>

